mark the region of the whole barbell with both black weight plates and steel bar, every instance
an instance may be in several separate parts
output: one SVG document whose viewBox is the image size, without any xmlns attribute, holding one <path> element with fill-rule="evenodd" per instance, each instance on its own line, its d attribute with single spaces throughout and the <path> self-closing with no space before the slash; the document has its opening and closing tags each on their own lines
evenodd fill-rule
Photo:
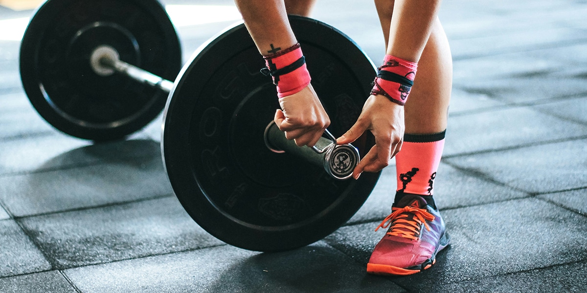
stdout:
<svg viewBox="0 0 587 293">
<path fill-rule="evenodd" d="M 23 87 L 58 130 L 94 140 L 144 127 L 167 96 L 161 152 L 187 213 L 233 246 L 289 250 L 338 229 L 379 178 L 338 180 L 374 145 L 371 134 L 354 146 L 332 141 L 359 116 L 373 63 L 332 26 L 289 21 L 332 121 L 315 148 L 297 147 L 270 122 L 275 86 L 259 72 L 264 60 L 242 22 L 198 48 L 177 74 L 177 33 L 156 0 L 46 1 L 23 37 Z"/>
</svg>

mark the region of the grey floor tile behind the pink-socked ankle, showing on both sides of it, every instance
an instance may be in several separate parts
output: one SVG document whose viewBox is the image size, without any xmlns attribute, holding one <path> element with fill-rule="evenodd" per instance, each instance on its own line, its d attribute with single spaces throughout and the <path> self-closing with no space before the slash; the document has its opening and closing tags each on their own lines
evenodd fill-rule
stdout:
<svg viewBox="0 0 587 293">
<path fill-rule="evenodd" d="M 454 209 L 527 197 L 528 194 L 467 174 L 440 163 L 434 179 L 434 202 L 440 209 Z M 384 169 L 373 192 L 349 224 L 383 220 L 392 212 L 397 189 L 395 167 Z M 373 226 L 375 229 L 376 225 Z"/>
</svg>

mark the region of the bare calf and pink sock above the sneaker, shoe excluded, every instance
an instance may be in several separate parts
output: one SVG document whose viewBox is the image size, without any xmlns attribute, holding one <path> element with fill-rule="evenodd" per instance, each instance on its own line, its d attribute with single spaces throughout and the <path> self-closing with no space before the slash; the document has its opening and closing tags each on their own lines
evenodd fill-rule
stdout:
<svg viewBox="0 0 587 293">
<path fill-rule="evenodd" d="M 418 63 L 419 70 L 410 98 L 405 105 L 406 134 L 403 152 L 396 156 L 399 191 L 433 195 L 433 181 L 444 146 L 444 135 L 440 137 L 438 134 L 444 134 L 447 127 L 452 65 L 448 40 L 440 21 L 436 19 Z M 410 176 L 410 183 L 407 184 L 408 178 L 402 178 L 402 174 L 407 174 L 413 168 L 418 168 L 419 172 Z"/>
</svg>

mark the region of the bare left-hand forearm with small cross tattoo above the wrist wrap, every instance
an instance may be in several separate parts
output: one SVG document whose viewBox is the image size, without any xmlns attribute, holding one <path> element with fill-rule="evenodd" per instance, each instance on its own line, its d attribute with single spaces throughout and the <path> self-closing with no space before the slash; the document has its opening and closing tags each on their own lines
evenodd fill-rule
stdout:
<svg viewBox="0 0 587 293">
<path fill-rule="evenodd" d="M 268 56 L 295 45 L 283 0 L 235 0 L 259 53 Z"/>
</svg>

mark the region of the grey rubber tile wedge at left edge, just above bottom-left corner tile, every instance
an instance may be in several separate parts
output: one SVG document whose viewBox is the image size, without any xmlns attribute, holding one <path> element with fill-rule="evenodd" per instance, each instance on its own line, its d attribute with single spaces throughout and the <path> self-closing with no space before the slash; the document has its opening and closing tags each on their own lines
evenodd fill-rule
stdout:
<svg viewBox="0 0 587 293">
<path fill-rule="evenodd" d="M 49 262 L 14 220 L 0 221 L 0 243 L 0 277 L 50 270 Z"/>
</svg>

